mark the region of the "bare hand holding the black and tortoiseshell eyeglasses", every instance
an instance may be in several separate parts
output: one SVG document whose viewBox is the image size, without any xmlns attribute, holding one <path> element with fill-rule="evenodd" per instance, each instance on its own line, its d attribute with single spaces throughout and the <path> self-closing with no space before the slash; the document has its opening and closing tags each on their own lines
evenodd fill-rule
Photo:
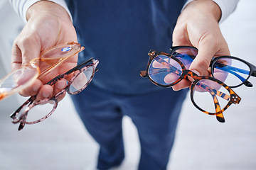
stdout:
<svg viewBox="0 0 256 170">
<path fill-rule="evenodd" d="M 199 76 L 210 75 L 209 65 L 213 56 L 230 55 L 227 42 L 218 26 L 220 16 L 220 8 L 214 1 L 192 1 L 181 12 L 174 28 L 173 46 L 188 45 L 198 48 L 198 55 L 189 69 Z M 173 89 L 177 91 L 190 85 L 190 81 L 182 80 Z"/>
</svg>

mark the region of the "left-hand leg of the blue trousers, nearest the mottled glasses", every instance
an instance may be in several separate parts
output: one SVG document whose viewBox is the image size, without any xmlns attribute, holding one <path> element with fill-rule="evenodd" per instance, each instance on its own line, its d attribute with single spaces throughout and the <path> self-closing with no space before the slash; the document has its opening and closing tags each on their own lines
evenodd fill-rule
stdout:
<svg viewBox="0 0 256 170">
<path fill-rule="evenodd" d="M 89 86 L 72 98 L 85 128 L 100 145 L 97 168 L 109 169 L 124 159 L 123 115 L 112 96 L 99 90 Z"/>
</svg>

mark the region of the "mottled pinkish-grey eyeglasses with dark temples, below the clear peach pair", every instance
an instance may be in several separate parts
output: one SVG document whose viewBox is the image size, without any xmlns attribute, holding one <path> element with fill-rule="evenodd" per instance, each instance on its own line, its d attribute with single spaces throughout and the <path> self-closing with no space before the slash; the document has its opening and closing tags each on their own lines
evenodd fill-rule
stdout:
<svg viewBox="0 0 256 170">
<path fill-rule="evenodd" d="M 57 108 L 58 97 L 66 92 L 73 95 L 85 89 L 85 87 L 90 84 L 90 81 L 92 81 L 95 72 L 97 72 L 96 67 L 98 63 L 98 60 L 91 58 L 90 60 L 82 62 L 82 64 L 79 64 L 77 67 L 70 69 L 68 72 L 60 74 L 48 81 L 47 84 L 54 86 L 56 82 L 65 79 L 67 86 L 50 98 L 43 98 L 40 101 L 36 101 L 36 96 L 28 98 L 28 100 L 11 115 L 14 124 L 20 123 L 18 130 L 22 130 L 26 124 L 35 124 L 46 120 Z"/>
</svg>

